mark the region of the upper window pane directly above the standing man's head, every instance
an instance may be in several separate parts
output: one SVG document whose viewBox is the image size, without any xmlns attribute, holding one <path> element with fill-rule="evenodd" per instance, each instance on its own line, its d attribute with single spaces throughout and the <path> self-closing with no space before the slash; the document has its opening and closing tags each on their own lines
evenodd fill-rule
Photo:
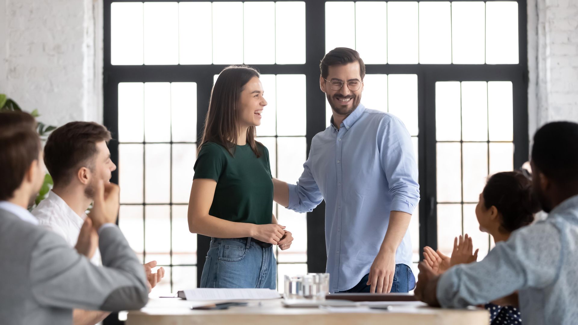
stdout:
<svg viewBox="0 0 578 325">
<path fill-rule="evenodd" d="M 355 3 L 325 2 L 325 53 L 335 47 L 355 49 L 355 28 L 346 28 L 343 21 L 355 21 Z"/>
</svg>

